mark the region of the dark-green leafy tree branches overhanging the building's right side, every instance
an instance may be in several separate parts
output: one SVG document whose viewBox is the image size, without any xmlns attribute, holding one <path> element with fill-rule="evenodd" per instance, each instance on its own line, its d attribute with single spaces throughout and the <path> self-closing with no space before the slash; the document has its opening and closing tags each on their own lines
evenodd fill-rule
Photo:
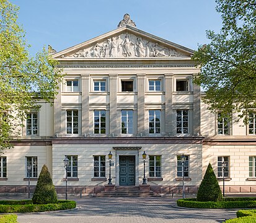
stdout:
<svg viewBox="0 0 256 223">
<path fill-rule="evenodd" d="M 256 108 L 256 1 L 216 0 L 220 33 L 206 31 L 211 40 L 200 45 L 192 59 L 201 67 L 195 83 L 206 90 L 203 100 L 225 116 L 239 112 L 248 120 Z"/>
</svg>

